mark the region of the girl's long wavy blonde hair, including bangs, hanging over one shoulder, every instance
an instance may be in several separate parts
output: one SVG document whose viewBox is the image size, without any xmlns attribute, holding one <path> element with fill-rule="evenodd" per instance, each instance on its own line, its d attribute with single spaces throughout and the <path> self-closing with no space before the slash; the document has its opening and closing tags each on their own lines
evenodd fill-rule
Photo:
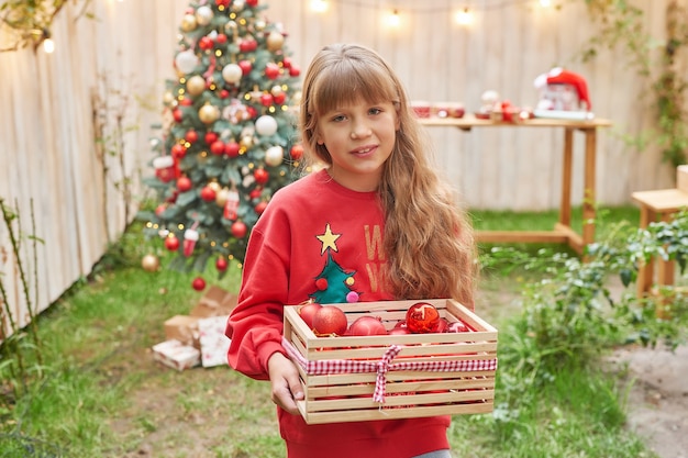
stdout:
<svg viewBox="0 0 688 458">
<path fill-rule="evenodd" d="M 474 306 L 473 230 L 451 187 L 431 161 L 431 142 L 412 114 L 391 67 L 359 45 L 331 45 L 311 62 L 303 79 L 299 122 L 307 160 L 332 165 L 317 142 L 318 119 L 358 99 L 391 101 L 400 129 L 378 188 L 385 211 L 387 281 L 397 299 L 454 298 Z"/>
</svg>

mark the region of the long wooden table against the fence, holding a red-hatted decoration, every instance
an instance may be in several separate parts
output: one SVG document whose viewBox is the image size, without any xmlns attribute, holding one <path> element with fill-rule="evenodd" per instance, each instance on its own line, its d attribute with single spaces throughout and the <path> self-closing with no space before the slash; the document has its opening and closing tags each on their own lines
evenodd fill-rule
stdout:
<svg viewBox="0 0 688 458">
<path fill-rule="evenodd" d="M 559 127 L 564 130 L 564 161 L 562 170 L 562 200 L 559 220 L 552 231 L 478 231 L 478 242 L 487 243 L 562 243 L 568 244 L 578 254 L 595 241 L 595 179 L 597 155 L 597 130 L 608 127 L 608 120 L 555 120 L 530 119 L 517 123 L 464 118 L 421 118 L 421 124 L 429 127 L 456 127 L 469 132 L 474 127 Z M 572 176 L 574 154 L 574 132 L 585 135 L 585 172 L 582 197 L 582 234 L 572 228 Z"/>
</svg>

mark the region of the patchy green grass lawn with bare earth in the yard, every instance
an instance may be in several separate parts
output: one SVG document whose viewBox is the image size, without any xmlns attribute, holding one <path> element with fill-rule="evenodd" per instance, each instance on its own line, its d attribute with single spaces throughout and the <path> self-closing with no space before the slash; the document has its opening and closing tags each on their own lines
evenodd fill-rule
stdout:
<svg viewBox="0 0 688 458">
<path fill-rule="evenodd" d="M 633 208 L 601 213 L 609 224 L 637 221 Z M 500 230 L 551 228 L 557 219 L 556 212 L 473 215 L 478 228 Z M 609 227 L 600 222 L 598 234 Z M 89 281 L 40 317 L 46 364 L 32 362 L 34 377 L 20 399 L 12 398 L 7 366 L 0 365 L 0 457 L 121 457 L 140 450 L 162 457 L 284 457 L 268 383 L 225 368 L 177 372 L 153 360 L 149 348 L 164 339 L 164 321 L 187 314 L 199 298 L 190 288 L 195 275 L 142 270 L 145 253 L 157 253 L 163 264 L 168 259 L 142 242 L 135 226 L 122 244 L 124 250 L 106 256 Z M 522 273 L 491 272 L 484 288 L 518 292 Z M 238 281 L 236 269 L 219 286 L 236 291 Z M 520 310 L 506 310 L 487 311 L 500 328 L 500 351 L 517 345 L 506 324 Z M 455 417 L 451 442 L 462 457 L 651 456 L 623 428 L 622 390 L 590 368 L 564 367 L 544 387 L 498 371 L 495 414 Z"/>
</svg>

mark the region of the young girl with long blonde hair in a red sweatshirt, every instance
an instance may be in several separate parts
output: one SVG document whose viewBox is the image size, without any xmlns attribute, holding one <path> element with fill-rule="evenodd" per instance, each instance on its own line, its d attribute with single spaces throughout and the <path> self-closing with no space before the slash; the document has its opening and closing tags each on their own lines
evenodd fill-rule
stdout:
<svg viewBox="0 0 688 458">
<path fill-rule="evenodd" d="M 276 192 L 252 231 L 230 365 L 270 381 L 289 458 L 450 457 L 448 416 L 307 425 L 299 415 L 285 304 L 454 298 L 473 308 L 475 273 L 471 228 L 389 65 L 362 46 L 328 46 L 302 92 L 306 153 L 326 167 Z"/>
</svg>

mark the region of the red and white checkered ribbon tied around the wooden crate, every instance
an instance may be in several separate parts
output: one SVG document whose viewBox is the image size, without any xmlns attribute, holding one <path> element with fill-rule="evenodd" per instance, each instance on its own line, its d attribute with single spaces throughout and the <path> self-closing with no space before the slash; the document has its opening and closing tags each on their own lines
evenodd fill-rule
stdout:
<svg viewBox="0 0 688 458">
<path fill-rule="evenodd" d="M 493 359 L 469 359 L 453 361 L 404 361 L 392 362 L 395 357 L 401 351 L 399 345 L 391 345 L 382 355 L 379 361 L 359 361 L 353 359 L 322 359 L 309 361 L 301 355 L 289 340 L 282 337 L 282 346 L 291 359 L 298 364 L 309 376 L 326 376 L 335 373 L 360 373 L 377 372 L 375 379 L 375 402 L 385 402 L 385 387 L 387 384 L 387 372 L 392 370 L 424 370 L 431 372 L 456 372 L 474 370 L 497 370 L 497 358 Z"/>
</svg>

